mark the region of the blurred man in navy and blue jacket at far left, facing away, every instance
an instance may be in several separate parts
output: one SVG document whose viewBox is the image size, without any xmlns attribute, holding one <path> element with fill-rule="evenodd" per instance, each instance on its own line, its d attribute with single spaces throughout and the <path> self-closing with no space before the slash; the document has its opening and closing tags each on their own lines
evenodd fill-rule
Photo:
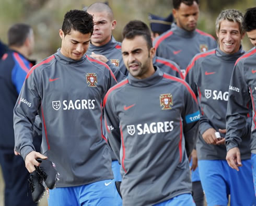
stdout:
<svg viewBox="0 0 256 206">
<path fill-rule="evenodd" d="M 8 46 L 0 60 L 0 164 L 5 181 L 5 205 L 36 205 L 27 196 L 29 173 L 21 156 L 14 154 L 13 110 L 22 84 L 32 67 L 28 60 L 34 47 L 32 28 L 25 23 L 17 23 L 8 30 Z M 34 138 L 34 146 L 39 150 L 40 138 Z"/>
</svg>

